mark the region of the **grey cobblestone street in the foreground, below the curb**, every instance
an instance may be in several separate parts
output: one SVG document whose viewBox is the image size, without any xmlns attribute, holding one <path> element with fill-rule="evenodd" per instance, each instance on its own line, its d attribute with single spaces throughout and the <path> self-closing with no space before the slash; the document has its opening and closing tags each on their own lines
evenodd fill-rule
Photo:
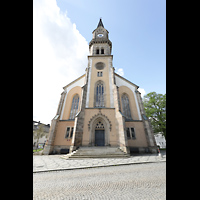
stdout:
<svg viewBox="0 0 200 200">
<path fill-rule="evenodd" d="M 166 199 L 166 163 L 33 174 L 33 199 Z"/>
</svg>

